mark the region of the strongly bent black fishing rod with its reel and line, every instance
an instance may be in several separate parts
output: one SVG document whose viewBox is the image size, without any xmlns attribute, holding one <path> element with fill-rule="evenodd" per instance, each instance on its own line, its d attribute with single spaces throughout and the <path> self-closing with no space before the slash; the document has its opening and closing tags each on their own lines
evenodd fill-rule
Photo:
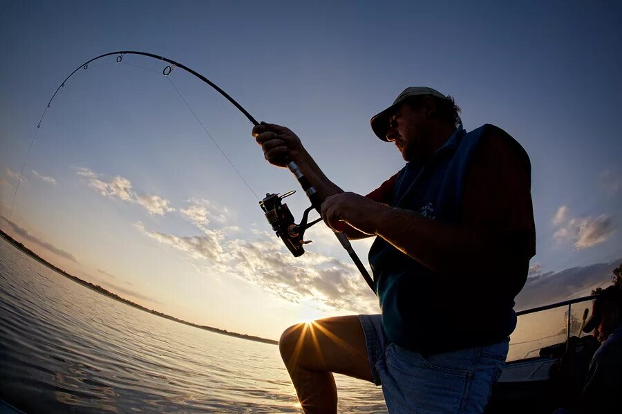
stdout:
<svg viewBox="0 0 622 414">
<path fill-rule="evenodd" d="M 255 118 L 250 113 L 248 113 L 248 111 L 246 111 L 246 109 L 244 109 L 241 104 L 238 104 L 238 102 L 236 102 L 236 100 L 234 100 L 231 96 L 229 96 L 229 94 L 227 94 L 225 91 L 223 91 L 223 89 L 218 87 L 218 85 L 214 84 L 214 82 L 211 82 L 209 79 L 207 79 L 207 77 L 205 77 L 205 76 L 201 75 L 200 73 L 196 72 L 196 70 L 192 70 L 191 68 L 185 66 L 184 64 L 180 64 L 179 62 L 176 62 L 173 59 L 169 59 L 167 57 L 162 57 L 162 56 L 154 55 L 153 53 L 139 52 L 139 51 L 135 51 L 135 50 L 122 50 L 122 51 L 118 51 L 118 52 L 104 53 L 103 55 L 99 55 L 97 57 L 93 57 L 93 59 L 90 59 L 90 60 L 84 62 L 83 64 L 81 64 L 80 66 L 78 66 L 77 68 L 75 68 L 75 70 L 73 70 L 73 72 L 70 73 L 65 78 L 65 80 L 58 86 L 58 88 L 56 89 L 56 91 L 54 92 L 52 97 L 50 98 L 50 100 L 49 100 L 49 102 L 48 102 L 48 104 L 46 106 L 46 109 L 44 110 L 43 114 L 41 115 L 41 118 L 39 119 L 39 123 L 37 124 L 37 129 L 39 129 L 41 127 L 41 121 L 43 121 L 43 119 L 44 119 L 48 109 L 50 108 L 50 105 L 52 104 L 54 98 L 56 97 L 58 91 L 60 91 L 61 88 L 65 87 L 65 83 L 70 79 L 70 77 L 72 77 L 80 69 L 83 69 L 83 70 L 88 69 L 88 64 L 91 64 L 91 62 L 94 62 L 97 59 L 102 59 L 103 57 L 113 56 L 113 55 L 117 55 L 116 61 L 119 64 L 122 62 L 124 55 L 141 55 L 141 56 L 151 57 L 153 59 L 158 59 L 158 60 L 161 60 L 163 62 L 167 62 L 169 65 L 165 66 L 164 69 L 162 70 L 162 75 L 164 75 L 166 77 L 171 74 L 171 72 L 173 71 L 174 68 L 181 68 L 181 69 L 185 70 L 187 73 L 190 73 L 191 75 L 194 75 L 195 77 L 198 77 L 198 79 L 202 80 L 202 82 L 205 82 L 206 84 L 211 86 L 211 88 L 214 88 L 218 93 L 220 93 L 220 95 L 222 95 L 223 97 L 227 98 L 227 100 L 229 102 L 231 102 L 239 111 L 241 111 L 241 113 L 243 113 L 245 115 L 245 117 L 247 117 L 248 120 L 254 126 L 259 125 L 259 122 L 257 122 L 257 120 L 255 120 Z M 171 84 L 172 84 L 172 82 L 171 82 Z M 173 84 L 173 87 L 179 93 L 179 91 L 174 86 L 174 84 Z M 181 94 L 180 94 L 180 97 L 182 97 Z M 183 97 L 182 97 L 182 100 L 184 100 Z M 185 100 L 184 100 L 184 102 L 188 105 L 188 103 Z M 191 110 L 191 112 L 193 113 L 193 115 L 195 115 L 195 117 L 196 117 L 196 114 L 194 113 L 194 111 L 192 111 L 192 109 L 190 108 L 189 105 L 188 105 L 188 107 Z M 198 120 L 198 117 L 196 117 L 196 118 Z M 199 122 L 200 122 L 200 120 L 199 120 Z M 201 123 L 201 125 L 202 125 L 202 123 Z M 204 129 L 205 129 L 205 127 L 204 127 Z M 206 130 L 206 132 L 207 132 L 207 130 Z M 214 139 L 212 138 L 212 140 L 214 140 Z M 34 138 L 33 138 L 32 142 L 34 142 Z M 32 142 L 30 143 L 30 148 L 32 148 Z M 223 153 L 223 156 L 225 156 L 225 158 L 227 158 L 227 161 L 229 161 L 229 164 L 231 164 L 231 166 L 236 170 L 236 173 L 238 173 L 238 176 L 240 176 L 240 178 L 245 182 L 247 187 L 249 187 L 249 189 L 252 191 L 252 189 L 250 188 L 250 186 L 248 185 L 246 180 L 244 180 L 244 178 L 239 173 L 238 169 L 236 169 L 234 164 L 225 155 L 223 150 L 220 149 L 220 147 L 218 146 L 218 144 L 216 143 L 215 140 L 214 140 L 214 143 L 216 144 L 216 146 L 218 147 L 220 152 Z M 30 153 L 30 149 L 28 149 L 28 153 Z M 26 158 L 28 158 L 28 155 L 26 156 Z M 274 230 L 274 232 L 276 232 L 276 236 L 281 238 L 283 243 L 285 243 L 285 246 L 288 247 L 288 250 L 290 250 L 290 252 L 295 257 L 299 257 L 299 256 L 301 256 L 305 252 L 303 245 L 305 245 L 306 243 L 309 243 L 308 241 L 304 241 L 303 240 L 303 236 L 304 236 L 305 230 L 308 229 L 309 227 L 311 227 L 312 225 L 314 225 L 315 223 L 319 223 L 319 221 L 321 221 L 321 218 L 318 218 L 317 220 L 313 220 L 312 222 L 307 223 L 308 214 L 309 214 L 309 212 L 312 209 L 315 209 L 321 215 L 321 205 L 322 205 L 323 200 L 321 200 L 321 198 L 320 198 L 317 190 L 315 189 L 315 187 L 313 187 L 313 185 L 309 182 L 309 180 L 300 171 L 300 169 L 299 169 L 298 165 L 296 164 L 296 162 L 294 162 L 289 156 L 286 156 L 283 161 L 288 166 L 288 169 L 294 174 L 294 176 L 296 177 L 296 180 L 298 180 L 298 182 L 301 185 L 303 191 L 305 191 L 305 194 L 307 195 L 307 197 L 309 198 L 309 200 L 311 202 L 311 206 L 308 207 L 307 209 L 305 209 L 305 211 L 303 213 L 303 217 L 301 219 L 301 222 L 299 224 L 296 224 L 295 220 L 294 220 L 294 216 L 293 216 L 292 212 L 290 211 L 290 209 L 288 208 L 288 205 L 286 203 L 282 203 L 283 198 L 291 196 L 292 194 L 294 194 L 295 191 L 288 191 L 287 193 L 285 193 L 283 195 L 268 193 L 268 194 L 266 194 L 265 198 L 263 198 L 263 200 L 261 200 L 259 202 L 259 205 L 261 206 L 261 209 L 263 209 L 263 211 L 265 213 L 265 217 L 268 220 L 268 223 L 270 223 L 270 225 L 272 225 L 272 229 Z M 24 161 L 24 165 L 25 164 L 26 164 L 26 161 Z M 23 172 L 23 167 L 22 167 L 22 172 Z M 18 186 L 19 186 L 19 181 L 18 181 Z M 19 187 L 17 187 L 17 188 L 19 188 Z M 17 188 L 15 189 L 15 194 L 17 194 Z M 254 194 L 254 191 L 252 191 L 252 192 Z M 15 196 L 13 198 L 13 203 L 15 203 Z M 11 211 L 12 211 L 12 206 L 11 206 Z M 9 217 L 9 219 L 10 219 L 10 217 Z M 350 241 L 348 240 L 346 235 L 343 234 L 343 233 L 334 233 L 334 234 L 335 234 L 335 236 L 337 236 L 337 240 L 339 240 L 339 243 L 341 243 L 341 246 L 343 246 L 343 248 L 346 250 L 346 252 L 348 252 L 348 255 L 350 256 L 352 261 L 355 263 L 355 265 L 356 265 L 357 269 L 359 270 L 359 272 L 361 272 L 361 275 L 365 279 L 366 283 L 369 285 L 371 290 L 373 290 L 373 292 L 375 293 L 374 282 L 373 282 L 372 278 L 370 277 L 369 273 L 367 272 L 367 269 L 365 268 L 365 266 L 361 262 L 361 259 L 359 258 L 359 256 L 355 252 L 354 248 L 352 248 L 352 244 L 350 243 Z"/>
</svg>

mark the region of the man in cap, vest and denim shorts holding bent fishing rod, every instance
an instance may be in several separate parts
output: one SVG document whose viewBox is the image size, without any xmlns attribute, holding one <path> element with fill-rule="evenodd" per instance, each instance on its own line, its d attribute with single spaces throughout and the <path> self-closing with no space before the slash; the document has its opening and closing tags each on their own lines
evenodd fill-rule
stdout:
<svg viewBox="0 0 622 414">
<path fill-rule="evenodd" d="M 265 159 L 289 156 L 324 200 L 322 217 L 369 252 L 381 314 L 283 332 L 283 361 L 305 413 L 336 413 L 332 373 L 381 385 L 390 413 L 481 413 L 516 327 L 513 299 L 535 254 L 531 167 L 487 124 L 466 132 L 453 98 L 410 87 L 371 119 L 406 165 L 367 196 L 345 192 L 301 140 L 255 126 Z"/>
</svg>

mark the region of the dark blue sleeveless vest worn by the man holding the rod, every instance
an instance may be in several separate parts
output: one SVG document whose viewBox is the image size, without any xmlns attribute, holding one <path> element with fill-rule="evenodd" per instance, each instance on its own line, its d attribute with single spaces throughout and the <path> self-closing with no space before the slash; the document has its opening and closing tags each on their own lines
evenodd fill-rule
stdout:
<svg viewBox="0 0 622 414">
<path fill-rule="evenodd" d="M 469 162 L 486 131 L 509 140 L 529 167 L 529 157 L 510 135 L 491 124 L 456 131 L 424 166 L 409 162 L 399 171 L 393 205 L 442 223 L 460 225 Z M 452 260 L 447 257 L 447 260 Z M 516 328 L 515 290 L 475 288 L 478 275 L 448 281 L 377 237 L 369 252 L 382 322 L 393 343 L 422 352 L 446 352 L 505 339 Z M 484 265 L 484 263 L 482 263 Z M 500 275 L 502 277 L 503 275 Z M 523 282 L 524 283 L 524 282 Z"/>
</svg>

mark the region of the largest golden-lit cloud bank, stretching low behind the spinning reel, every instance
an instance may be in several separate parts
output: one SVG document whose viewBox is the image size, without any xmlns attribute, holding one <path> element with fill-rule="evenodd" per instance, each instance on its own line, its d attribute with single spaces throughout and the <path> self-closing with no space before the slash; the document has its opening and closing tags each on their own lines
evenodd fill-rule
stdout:
<svg viewBox="0 0 622 414">
<path fill-rule="evenodd" d="M 377 299 L 354 265 L 314 252 L 295 258 L 265 232 L 248 240 L 228 239 L 225 232 L 205 227 L 200 236 L 176 236 L 153 232 L 140 222 L 134 226 L 159 243 L 208 261 L 195 266 L 203 272 L 236 276 L 293 303 L 312 299 L 334 309 L 378 312 Z"/>
</svg>

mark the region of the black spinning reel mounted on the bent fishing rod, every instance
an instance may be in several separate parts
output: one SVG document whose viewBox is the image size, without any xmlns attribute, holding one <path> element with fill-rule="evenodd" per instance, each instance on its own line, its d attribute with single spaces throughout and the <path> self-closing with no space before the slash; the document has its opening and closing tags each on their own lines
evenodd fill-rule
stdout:
<svg viewBox="0 0 622 414">
<path fill-rule="evenodd" d="M 267 218 L 268 223 L 272 225 L 272 229 L 276 232 L 276 236 L 281 238 L 285 246 L 288 247 L 295 257 L 298 257 L 305 252 L 303 245 L 311 243 L 311 241 L 303 240 L 305 230 L 315 223 L 319 223 L 322 218 L 320 217 L 317 220 L 313 220 L 311 223 L 307 223 L 309 211 L 314 209 L 314 207 L 311 206 L 305 209 L 300 223 L 294 223 L 294 216 L 290 208 L 287 204 L 281 203 L 281 200 L 291 196 L 295 192 L 294 190 L 288 191 L 282 196 L 280 194 L 268 193 L 265 195 L 265 198 L 259 202 L 259 205 L 265 212 L 265 218 Z"/>
</svg>

